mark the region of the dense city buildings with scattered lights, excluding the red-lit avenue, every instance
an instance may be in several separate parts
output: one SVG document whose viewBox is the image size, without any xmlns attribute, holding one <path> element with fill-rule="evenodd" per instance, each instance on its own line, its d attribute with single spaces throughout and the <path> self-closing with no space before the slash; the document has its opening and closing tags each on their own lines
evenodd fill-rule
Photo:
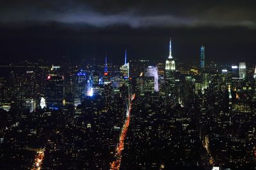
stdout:
<svg viewBox="0 0 256 170">
<path fill-rule="evenodd" d="M 256 166 L 256 68 L 205 62 L 185 69 L 127 60 L 116 66 L 0 66 L 3 169 L 109 169 L 129 95 L 136 94 L 120 169 L 248 169 Z M 1 169 L 1 168 L 0 168 Z"/>
</svg>

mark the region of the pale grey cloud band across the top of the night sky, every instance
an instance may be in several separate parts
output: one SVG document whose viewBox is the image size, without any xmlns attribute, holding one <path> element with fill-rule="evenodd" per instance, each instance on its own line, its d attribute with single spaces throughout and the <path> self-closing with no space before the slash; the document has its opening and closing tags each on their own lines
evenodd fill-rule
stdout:
<svg viewBox="0 0 256 170">
<path fill-rule="evenodd" d="M 60 22 L 96 27 L 256 28 L 251 1 L 12 1 L 0 7 L 4 24 Z"/>
</svg>

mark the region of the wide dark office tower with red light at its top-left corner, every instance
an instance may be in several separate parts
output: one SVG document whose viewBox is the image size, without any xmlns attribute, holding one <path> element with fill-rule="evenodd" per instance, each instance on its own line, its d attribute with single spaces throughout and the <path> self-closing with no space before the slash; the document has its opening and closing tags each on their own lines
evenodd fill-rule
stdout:
<svg viewBox="0 0 256 170">
<path fill-rule="evenodd" d="M 63 102 L 63 76 L 49 75 L 45 82 L 47 108 L 61 108 Z"/>
</svg>

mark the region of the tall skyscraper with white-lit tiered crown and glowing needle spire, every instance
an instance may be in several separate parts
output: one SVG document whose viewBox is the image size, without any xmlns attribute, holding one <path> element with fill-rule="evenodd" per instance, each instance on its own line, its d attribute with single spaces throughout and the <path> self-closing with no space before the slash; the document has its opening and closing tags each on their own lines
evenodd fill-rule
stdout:
<svg viewBox="0 0 256 170">
<path fill-rule="evenodd" d="M 178 90 L 175 83 L 175 60 L 172 57 L 172 41 L 170 39 L 170 55 L 165 62 L 165 96 L 166 106 L 175 106 L 178 103 Z"/>
</svg>

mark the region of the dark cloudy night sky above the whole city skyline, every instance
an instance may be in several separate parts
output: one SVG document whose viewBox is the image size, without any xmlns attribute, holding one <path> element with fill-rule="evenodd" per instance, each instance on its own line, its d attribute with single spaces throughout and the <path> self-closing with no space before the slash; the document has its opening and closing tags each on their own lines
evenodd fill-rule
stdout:
<svg viewBox="0 0 256 170">
<path fill-rule="evenodd" d="M 164 60 L 172 37 L 182 62 L 256 62 L 253 1 L 4 1 L 0 5 L 1 62 L 67 59 L 104 53 L 114 62 Z"/>
</svg>

